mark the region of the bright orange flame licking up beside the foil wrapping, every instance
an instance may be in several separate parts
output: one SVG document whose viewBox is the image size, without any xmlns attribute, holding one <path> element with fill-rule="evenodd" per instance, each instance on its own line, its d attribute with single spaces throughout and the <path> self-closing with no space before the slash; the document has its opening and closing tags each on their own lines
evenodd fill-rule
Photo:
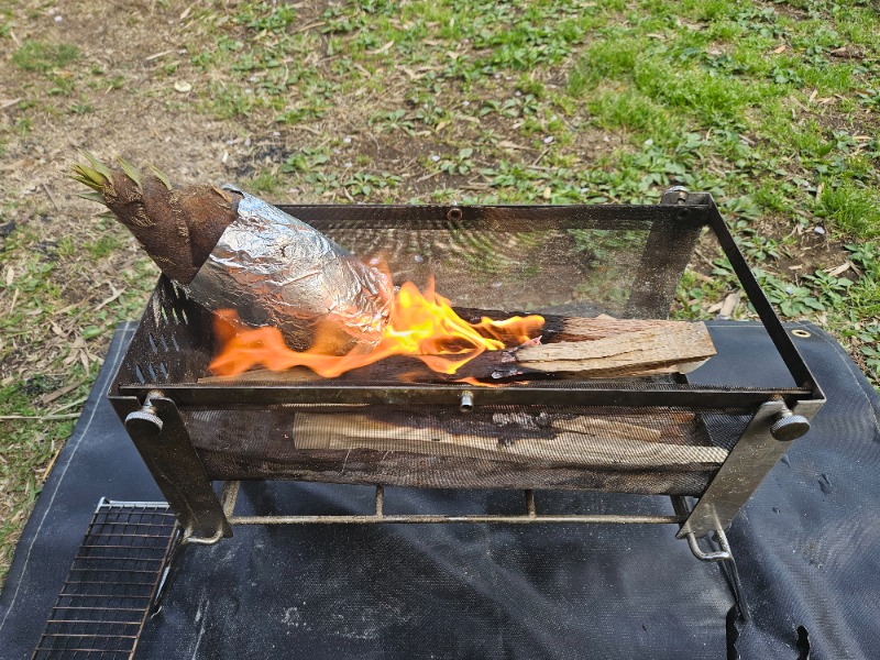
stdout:
<svg viewBox="0 0 880 660">
<path fill-rule="evenodd" d="M 391 319 L 380 343 L 371 351 L 336 355 L 330 349 L 333 328 L 318 328 L 315 343 L 306 351 L 294 351 L 277 328 L 250 329 L 231 309 L 215 317 L 215 331 L 222 346 L 210 369 L 221 376 L 234 376 L 252 366 L 272 371 L 306 366 L 324 378 L 366 366 L 391 355 L 411 355 L 431 370 L 454 374 L 484 351 L 498 351 L 522 344 L 537 336 L 543 317 L 512 317 L 494 321 L 483 317 L 479 323 L 462 319 L 448 299 L 438 295 L 433 279 L 422 295 L 411 282 L 397 293 Z"/>
</svg>

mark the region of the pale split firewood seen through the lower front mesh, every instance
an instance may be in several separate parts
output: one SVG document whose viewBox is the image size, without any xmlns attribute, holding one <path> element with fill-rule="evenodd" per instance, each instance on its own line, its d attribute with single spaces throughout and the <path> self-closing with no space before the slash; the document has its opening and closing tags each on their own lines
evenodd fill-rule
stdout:
<svg viewBox="0 0 880 660">
<path fill-rule="evenodd" d="M 697 415 L 658 408 L 565 406 L 536 410 L 488 406 L 471 414 L 450 414 L 447 407 L 372 406 L 366 410 L 297 411 L 293 425 L 294 443 L 302 449 L 356 447 L 360 442 L 371 448 L 382 444 L 374 438 L 387 438 L 389 447 L 382 449 L 392 451 L 395 443 L 409 441 L 410 451 L 417 453 L 441 453 L 449 446 L 452 455 L 495 454 L 495 460 L 525 458 L 525 462 L 543 460 L 624 469 L 663 464 L 666 454 L 684 461 L 701 455 L 692 449 L 712 447 Z M 515 451 L 519 446 L 528 446 L 525 453 Z M 591 446 L 602 451 L 591 452 Z M 650 460 L 637 451 L 651 448 L 662 451 Z M 471 449 L 474 451 L 469 452 Z M 702 452 L 702 461 L 691 462 L 721 463 L 724 453 Z M 706 460 L 708 457 L 715 459 Z"/>
</svg>

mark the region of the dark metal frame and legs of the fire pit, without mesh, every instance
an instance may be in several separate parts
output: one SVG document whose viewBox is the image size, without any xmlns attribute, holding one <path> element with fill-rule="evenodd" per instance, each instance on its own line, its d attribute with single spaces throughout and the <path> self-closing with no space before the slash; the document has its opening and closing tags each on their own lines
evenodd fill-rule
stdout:
<svg viewBox="0 0 880 660">
<path fill-rule="evenodd" d="M 656 277 L 657 255 L 664 253 L 664 246 L 684 241 L 690 254 L 702 228 L 707 227 L 715 234 L 734 272 L 757 311 L 765 329 L 788 367 L 795 384 L 790 387 L 721 387 L 692 385 L 681 378 L 670 386 L 661 383 L 619 382 L 565 385 L 534 382 L 528 386 L 497 388 L 474 388 L 457 384 L 402 384 L 364 385 L 337 383 L 305 384 L 194 384 L 170 382 L 169 373 L 193 371 L 193 354 L 187 353 L 170 338 L 173 346 L 163 349 L 177 364 L 147 364 L 146 372 L 136 365 L 139 355 L 158 352 L 156 339 L 144 329 L 152 322 L 160 322 L 165 315 L 169 324 L 186 327 L 190 333 L 209 332 L 204 319 L 189 319 L 184 311 L 172 306 L 166 310 L 162 300 L 180 298 L 183 293 L 164 277 L 160 280 L 151 305 L 144 315 L 139 332 L 132 340 L 127 359 L 114 380 L 109 398 L 120 419 L 125 422 L 132 440 L 163 494 L 177 513 L 189 542 L 210 543 L 231 536 L 230 520 L 235 524 L 250 524 L 255 520 L 237 518 L 232 508 L 224 510 L 211 485 L 209 474 L 194 447 L 182 409 L 223 408 L 234 406 L 242 409 L 260 409 L 265 406 L 289 405 L 309 406 L 327 404 L 392 404 L 392 405 L 444 405 L 455 409 L 462 395 L 475 395 L 475 405 L 517 405 L 517 406 L 631 406 L 631 407 L 685 407 L 695 411 L 718 408 L 749 408 L 754 411 L 751 421 L 729 452 L 708 487 L 701 494 L 691 509 L 681 497 L 673 496 L 675 515 L 668 517 L 622 516 L 617 519 L 582 521 L 660 522 L 680 525 L 679 536 L 688 538 L 692 548 L 695 539 L 711 532 L 721 532 L 729 527 L 736 514 L 760 485 L 773 464 L 788 450 L 798 433 L 783 435 L 773 431 L 773 425 L 782 418 L 800 416 L 803 419 L 800 432 L 809 428 L 809 420 L 824 403 L 824 394 L 816 384 L 809 366 L 798 352 L 794 343 L 783 328 L 757 279 L 749 270 L 743 254 L 727 229 L 718 209 L 708 194 L 689 194 L 672 189 L 663 196 L 658 206 L 579 206 L 579 207 L 419 207 L 417 219 L 410 218 L 411 207 L 391 206 L 287 206 L 283 210 L 299 217 L 319 230 L 333 229 L 332 218 L 345 217 L 350 227 L 360 222 L 365 229 L 406 228 L 409 222 L 414 229 L 443 229 L 454 218 L 468 228 L 493 231 L 519 231 L 541 227 L 558 228 L 603 228 L 626 222 L 651 220 L 652 229 L 648 235 L 642 263 L 634 287 L 628 309 L 648 309 L 656 317 L 666 315 L 674 296 L 674 287 L 669 288 L 670 278 Z M 515 211 L 528 218 L 518 227 Z M 575 212 L 576 211 L 576 212 Z M 504 218 L 503 221 L 499 218 Z M 576 221 L 572 218 L 576 218 Z M 574 223 L 574 224 L 573 224 Z M 679 253 L 680 254 L 680 253 Z M 664 267 L 675 274 L 671 282 L 676 283 L 686 260 L 678 256 Z M 170 314 L 173 319 L 168 319 Z M 178 316 L 183 318 L 178 318 Z M 151 320 L 152 319 L 152 320 Z M 163 343 L 165 339 L 160 338 Z M 133 366 L 134 365 L 134 366 Z M 138 382 L 130 374 L 135 371 Z M 799 424 L 801 424 L 799 421 Z M 777 439 L 780 437 L 781 439 Z M 378 491 L 377 491 L 378 493 Z M 377 495 L 377 513 L 373 516 L 358 517 L 358 520 L 337 519 L 337 522 L 397 522 L 397 521 L 488 521 L 488 517 L 465 520 L 462 517 L 410 516 L 409 520 L 392 519 L 381 515 L 381 501 Z M 227 503 L 229 499 L 227 499 Z M 233 498 L 234 507 L 234 498 Z M 284 517 L 282 517 L 284 518 Z M 301 517 L 300 517 L 301 518 Z M 328 520 L 287 519 L 290 522 L 326 522 Z M 531 513 L 525 516 L 532 519 Z M 260 519 L 260 522 L 267 520 Z M 510 522 L 513 520 L 498 520 Z M 559 520 L 564 521 L 564 520 Z M 574 521 L 574 520 L 571 520 Z"/>
</svg>

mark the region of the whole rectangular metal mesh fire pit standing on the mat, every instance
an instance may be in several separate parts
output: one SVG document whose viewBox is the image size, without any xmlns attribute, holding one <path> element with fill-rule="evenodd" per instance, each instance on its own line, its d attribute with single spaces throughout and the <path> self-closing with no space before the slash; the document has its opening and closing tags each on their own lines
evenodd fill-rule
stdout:
<svg viewBox="0 0 880 660">
<path fill-rule="evenodd" d="M 679 537 L 701 559 L 724 559 L 723 530 L 824 403 L 707 194 L 672 189 L 658 206 L 280 208 L 354 254 L 382 253 L 395 283 L 424 285 L 432 276 L 437 290 L 464 308 L 543 314 L 551 341 L 553 319 L 562 315 L 666 318 L 707 228 L 791 384 L 705 386 L 682 375 L 509 382 L 498 374 L 494 386 L 479 387 L 365 381 L 356 372 L 336 380 L 218 381 L 208 371 L 217 350 L 211 314 L 163 277 L 110 399 L 189 542 L 216 542 L 231 536 L 231 525 L 253 522 L 660 522 L 679 525 Z M 363 416 L 403 420 L 411 437 L 333 443 L 356 435 L 361 427 L 349 425 Z M 600 420 L 592 431 L 598 433 L 595 455 L 573 463 L 564 455 L 509 461 L 491 452 L 430 450 L 438 427 L 503 444 L 515 442 L 519 431 L 512 429 L 522 425 L 540 438 L 548 416 Z M 649 447 L 634 452 L 620 438 L 632 420 L 676 432 L 669 440 L 652 435 L 653 444 L 634 437 Z M 617 430 L 602 437 L 603 428 Z M 235 516 L 239 482 L 264 479 L 374 484 L 375 513 Z M 220 497 L 212 481 L 226 482 Z M 388 516 L 384 485 L 521 488 L 527 506 L 521 516 Z M 554 488 L 667 495 L 674 513 L 539 515 L 535 491 Z M 697 544 L 711 532 L 718 534 L 721 552 Z"/>
</svg>

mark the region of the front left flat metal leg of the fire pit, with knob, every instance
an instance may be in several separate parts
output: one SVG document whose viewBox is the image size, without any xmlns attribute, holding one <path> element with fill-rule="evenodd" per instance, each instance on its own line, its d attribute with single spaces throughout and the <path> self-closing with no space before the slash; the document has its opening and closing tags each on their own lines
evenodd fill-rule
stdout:
<svg viewBox="0 0 880 660">
<path fill-rule="evenodd" d="M 184 530 L 183 542 L 213 543 L 232 536 L 175 403 L 152 392 L 143 406 L 129 408 L 128 414 L 117 408 L 117 413 L 125 415 L 129 436 L 174 509 Z"/>
</svg>

